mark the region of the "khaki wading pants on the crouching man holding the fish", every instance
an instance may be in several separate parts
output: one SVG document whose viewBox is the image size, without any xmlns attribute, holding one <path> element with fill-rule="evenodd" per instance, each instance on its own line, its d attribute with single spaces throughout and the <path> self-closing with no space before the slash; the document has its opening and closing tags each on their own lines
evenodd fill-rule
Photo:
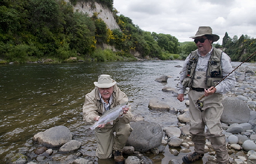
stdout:
<svg viewBox="0 0 256 164">
<path fill-rule="evenodd" d="M 114 135 L 114 132 L 116 132 L 116 135 Z M 122 151 L 131 132 L 130 124 L 123 124 L 119 121 L 111 128 L 95 128 L 95 138 L 98 146 L 96 156 L 100 159 L 107 159 L 112 157 L 113 150 Z"/>
</svg>

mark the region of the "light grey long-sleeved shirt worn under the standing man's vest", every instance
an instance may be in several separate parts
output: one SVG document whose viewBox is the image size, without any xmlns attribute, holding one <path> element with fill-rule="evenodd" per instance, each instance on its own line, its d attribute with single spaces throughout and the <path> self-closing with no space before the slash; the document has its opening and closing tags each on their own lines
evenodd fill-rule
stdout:
<svg viewBox="0 0 256 164">
<path fill-rule="evenodd" d="M 211 57 L 212 50 L 213 50 L 213 47 L 212 47 L 211 51 L 208 52 L 207 55 L 204 57 L 201 56 L 200 52 L 197 50 L 197 54 L 198 54 L 199 58 L 198 58 L 198 62 L 197 62 L 195 71 L 205 71 L 205 72 L 207 71 L 208 61 Z M 183 87 L 181 81 L 186 77 L 186 67 L 187 67 L 187 63 L 189 62 L 189 57 L 190 57 L 190 54 L 186 58 L 186 60 L 183 64 L 182 71 L 180 73 L 180 81 L 178 83 L 178 94 L 185 93 L 185 91 L 186 91 L 186 88 Z M 231 65 L 231 59 L 224 52 L 222 53 L 222 57 L 221 57 L 221 66 L 222 66 L 223 77 L 227 76 L 229 73 L 231 73 L 233 71 L 232 65 Z M 215 87 L 216 93 L 224 94 L 228 90 L 233 89 L 233 87 L 235 86 L 235 81 L 236 81 L 236 78 L 235 78 L 235 75 L 233 72 L 232 74 L 227 76 L 223 81 L 221 81 L 221 83 L 219 85 L 217 85 Z"/>
</svg>

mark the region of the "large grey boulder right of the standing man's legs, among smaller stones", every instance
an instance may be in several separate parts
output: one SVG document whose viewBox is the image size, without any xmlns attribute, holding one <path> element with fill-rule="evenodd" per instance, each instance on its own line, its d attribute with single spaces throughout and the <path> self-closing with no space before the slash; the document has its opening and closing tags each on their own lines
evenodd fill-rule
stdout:
<svg viewBox="0 0 256 164">
<path fill-rule="evenodd" d="M 225 124 L 241 124 L 249 121 L 250 110 L 244 101 L 234 97 L 227 97 L 222 101 L 222 104 L 224 110 L 221 115 L 221 121 Z"/>
</svg>

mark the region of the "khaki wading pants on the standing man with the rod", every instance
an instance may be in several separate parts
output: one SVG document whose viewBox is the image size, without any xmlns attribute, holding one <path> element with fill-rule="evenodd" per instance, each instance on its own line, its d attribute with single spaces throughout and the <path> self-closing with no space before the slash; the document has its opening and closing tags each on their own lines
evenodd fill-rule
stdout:
<svg viewBox="0 0 256 164">
<path fill-rule="evenodd" d="M 216 151 L 216 159 L 218 163 L 224 163 L 229 159 L 226 149 L 225 135 L 221 128 L 221 114 L 223 112 L 222 95 L 214 93 L 202 99 L 203 110 L 201 112 L 195 106 L 195 102 L 204 92 L 197 92 L 190 89 L 189 98 L 189 115 L 192 141 L 195 143 L 195 152 L 204 153 L 204 144 L 206 139 L 210 140 L 214 150 Z M 207 127 L 206 132 L 204 132 Z"/>
</svg>

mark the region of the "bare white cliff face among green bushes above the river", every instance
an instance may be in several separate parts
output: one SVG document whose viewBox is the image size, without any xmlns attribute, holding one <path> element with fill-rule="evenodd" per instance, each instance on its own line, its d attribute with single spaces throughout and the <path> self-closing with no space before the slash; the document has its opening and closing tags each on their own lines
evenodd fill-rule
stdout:
<svg viewBox="0 0 256 164">
<path fill-rule="evenodd" d="M 69 0 L 65 0 L 69 2 Z M 102 6 L 101 4 L 94 3 L 95 7 L 92 8 L 91 2 L 78 2 L 74 6 L 74 11 L 82 11 L 83 13 L 88 13 L 89 17 L 93 16 L 93 13 L 98 13 L 98 18 L 101 18 L 108 26 L 110 30 L 119 29 L 119 25 L 114 19 L 113 13 L 107 8 Z"/>
</svg>

